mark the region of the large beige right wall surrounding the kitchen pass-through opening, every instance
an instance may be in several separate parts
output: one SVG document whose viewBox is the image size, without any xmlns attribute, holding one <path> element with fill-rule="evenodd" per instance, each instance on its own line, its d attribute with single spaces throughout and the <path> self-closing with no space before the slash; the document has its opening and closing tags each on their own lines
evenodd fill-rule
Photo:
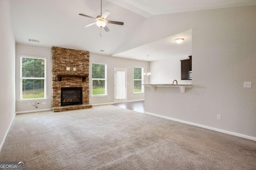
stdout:
<svg viewBox="0 0 256 170">
<path fill-rule="evenodd" d="M 143 45 L 192 29 L 193 76 L 192 88 L 186 88 L 184 94 L 176 88 L 149 90 L 145 111 L 256 137 L 255 28 L 256 6 L 148 18 L 126 45 Z M 170 61 L 152 63 L 150 69 L 161 67 L 161 72 L 168 72 L 166 62 Z M 156 81 L 150 78 L 150 82 Z M 251 81 L 252 88 L 244 88 L 244 81 Z M 222 120 L 217 120 L 216 114 L 221 114 Z"/>
</svg>

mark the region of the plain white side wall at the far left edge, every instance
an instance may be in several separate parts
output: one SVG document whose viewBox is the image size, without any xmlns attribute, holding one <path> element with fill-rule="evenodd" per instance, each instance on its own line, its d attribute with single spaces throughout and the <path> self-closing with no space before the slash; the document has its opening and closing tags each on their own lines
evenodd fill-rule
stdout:
<svg viewBox="0 0 256 170">
<path fill-rule="evenodd" d="M 15 115 L 15 39 L 10 1 L 0 1 L 0 149 Z"/>
</svg>

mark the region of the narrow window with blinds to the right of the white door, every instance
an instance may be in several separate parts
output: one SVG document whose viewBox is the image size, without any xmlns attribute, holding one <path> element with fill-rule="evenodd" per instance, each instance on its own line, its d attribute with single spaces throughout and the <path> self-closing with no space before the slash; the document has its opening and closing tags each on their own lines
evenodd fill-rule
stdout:
<svg viewBox="0 0 256 170">
<path fill-rule="evenodd" d="M 143 84 L 143 68 L 142 67 L 134 67 L 134 93 L 143 93 L 144 88 Z"/>
</svg>

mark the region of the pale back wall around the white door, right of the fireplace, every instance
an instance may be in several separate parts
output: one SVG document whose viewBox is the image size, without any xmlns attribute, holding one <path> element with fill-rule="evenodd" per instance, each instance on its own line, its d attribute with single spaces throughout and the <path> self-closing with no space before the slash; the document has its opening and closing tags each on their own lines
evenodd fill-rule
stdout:
<svg viewBox="0 0 256 170">
<path fill-rule="evenodd" d="M 133 68 L 134 66 L 143 67 L 144 70 L 149 68 L 147 61 L 138 61 L 130 59 L 122 59 L 117 57 L 109 57 L 105 55 L 90 54 L 90 70 L 92 70 L 92 62 L 107 64 L 107 91 L 108 96 L 92 97 L 91 72 L 90 72 L 90 104 L 103 104 L 114 102 L 114 68 L 127 68 L 127 101 L 143 100 L 144 93 L 133 94 Z M 144 83 L 149 82 L 149 77 L 144 76 Z M 108 99 L 108 97 L 110 99 Z"/>
</svg>

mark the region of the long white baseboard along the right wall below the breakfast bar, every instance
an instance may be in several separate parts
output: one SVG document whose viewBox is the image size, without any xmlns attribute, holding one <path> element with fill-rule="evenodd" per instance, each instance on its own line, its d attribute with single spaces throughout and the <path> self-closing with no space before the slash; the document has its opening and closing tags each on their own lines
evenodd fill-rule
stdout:
<svg viewBox="0 0 256 170">
<path fill-rule="evenodd" d="M 146 111 L 144 111 L 144 113 L 146 113 L 148 115 L 152 115 L 152 116 L 156 116 L 156 117 L 162 117 L 164 119 L 169 119 L 169 120 L 172 120 L 172 121 L 178 121 L 180 123 L 185 123 L 185 124 L 188 124 L 188 125 L 198 126 L 198 127 L 202 127 L 202 128 L 205 128 L 205 129 L 210 129 L 210 130 L 213 130 L 213 131 L 226 133 L 226 134 L 229 134 L 229 135 L 238 136 L 238 137 L 242 137 L 242 138 L 246 138 L 246 139 L 256 141 L 256 137 L 244 135 L 244 134 L 241 134 L 241 133 L 226 131 L 226 130 L 218 129 L 218 128 L 215 128 L 215 127 L 200 125 L 200 124 L 192 123 L 192 122 L 189 122 L 189 121 L 183 121 L 183 120 L 180 120 L 180 119 L 174 119 L 174 118 L 171 118 L 171 117 L 162 116 L 162 115 L 158 115 L 158 114 L 154 114 L 154 113 L 150 113 L 150 112 L 146 112 Z"/>
</svg>

